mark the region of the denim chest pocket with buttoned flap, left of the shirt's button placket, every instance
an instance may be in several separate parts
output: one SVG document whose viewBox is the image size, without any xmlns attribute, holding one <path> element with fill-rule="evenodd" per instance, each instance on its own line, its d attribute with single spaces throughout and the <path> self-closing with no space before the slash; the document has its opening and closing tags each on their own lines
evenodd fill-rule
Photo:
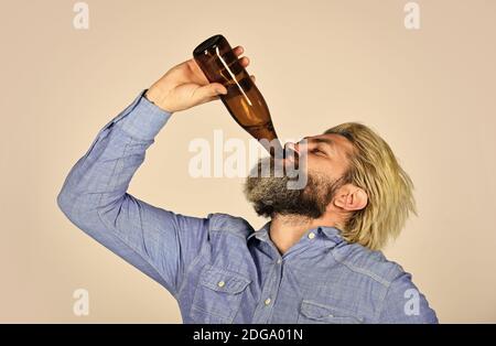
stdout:
<svg viewBox="0 0 496 346">
<path fill-rule="evenodd" d="M 196 323 L 233 323 L 250 282 L 237 272 L 207 266 L 200 274 L 190 316 Z"/>
</svg>

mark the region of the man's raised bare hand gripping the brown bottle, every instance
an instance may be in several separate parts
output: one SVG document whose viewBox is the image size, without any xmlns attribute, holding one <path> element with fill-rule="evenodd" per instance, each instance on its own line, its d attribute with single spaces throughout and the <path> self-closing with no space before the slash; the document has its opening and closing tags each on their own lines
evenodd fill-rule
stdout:
<svg viewBox="0 0 496 346">
<path fill-rule="evenodd" d="M 240 55 L 242 46 L 233 50 L 242 67 L 250 63 Z M 255 80 L 255 77 L 251 76 Z M 174 112 L 218 99 L 225 95 L 226 88 L 220 83 L 208 83 L 194 58 L 172 67 L 157 80 L 147 91 L 147 98 L 165 111 Z"/>
</svg>

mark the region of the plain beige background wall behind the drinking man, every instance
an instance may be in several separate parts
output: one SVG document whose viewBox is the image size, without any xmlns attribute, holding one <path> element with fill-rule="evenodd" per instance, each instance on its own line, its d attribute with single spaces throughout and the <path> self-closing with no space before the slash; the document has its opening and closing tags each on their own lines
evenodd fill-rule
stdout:
<svg viewBox="0 0 496 346">
<path fill-rule="evenodd" d="M 279 134 L 363 121 L 390 143 L 417 190 L 386 255 L 413 273 L 441 322 L 496 322 L 496 2 L 405 0 L 1 1 L 1 322 L 181 322 L 173 298 L 73 226 L 55 198 L 98 130 L 202 40 L 224 33 Z M 193 138 L 244 140 L 220 102 L 177 113 L 130 192 L 195 216 L 257 218 L 240 179 L 187 174 Z M 86 289 L 90 314 L 73 314 Z"/>
</svg>

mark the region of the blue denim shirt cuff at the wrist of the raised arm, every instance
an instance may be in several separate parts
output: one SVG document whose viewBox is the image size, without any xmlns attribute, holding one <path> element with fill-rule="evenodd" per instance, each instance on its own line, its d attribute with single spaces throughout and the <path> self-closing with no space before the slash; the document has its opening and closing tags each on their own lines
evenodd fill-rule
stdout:
<svg viewBox="0 0 496 346">
<path fill-rule="evenodd" d="M 153 140 L 171 117 L 144 97 L 143 90 L 137 99 L 115 119 L 116 125 L 129 136 L 141 140 Z"/>
</svg>

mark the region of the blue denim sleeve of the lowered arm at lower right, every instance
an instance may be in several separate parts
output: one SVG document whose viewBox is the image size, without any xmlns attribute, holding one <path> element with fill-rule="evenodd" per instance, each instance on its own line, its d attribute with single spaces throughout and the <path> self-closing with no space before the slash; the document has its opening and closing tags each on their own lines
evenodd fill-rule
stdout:
<svg viewBox="0 0 496 346">
<path fill-rule="evenodd" d="M 403 272 L 390 283 L 382 302 L 379 323 L 435 324 L 439 322 L 425 296 L 411 281 L 411 274 Z"/>
</svg>

